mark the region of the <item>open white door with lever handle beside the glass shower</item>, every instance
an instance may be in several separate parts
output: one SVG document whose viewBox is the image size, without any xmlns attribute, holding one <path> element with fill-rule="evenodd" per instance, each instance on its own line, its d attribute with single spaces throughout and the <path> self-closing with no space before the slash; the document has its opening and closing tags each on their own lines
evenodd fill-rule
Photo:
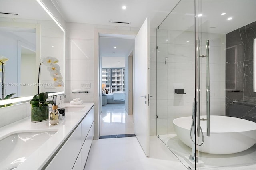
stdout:
<svg viewBox="0 0 256 170">
<path fill-rule="evenodd" d="M 149 156 L 149 20 L 146 18 L 134 45 L 134 130 Z"/>
</svg>

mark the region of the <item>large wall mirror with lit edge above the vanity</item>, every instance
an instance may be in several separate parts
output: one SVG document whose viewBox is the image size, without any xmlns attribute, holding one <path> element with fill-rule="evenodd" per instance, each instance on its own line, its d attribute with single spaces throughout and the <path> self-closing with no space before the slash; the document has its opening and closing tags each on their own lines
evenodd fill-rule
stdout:
<svg viewBox="0 0 256 170">
<path fill-rule="evenodd" d="M 29 100 L 38 91 L 64 93 L 64 84 L 56 85 L 44 58 L 58 60 L 56 64 L 61 77 L 57 78 L 59 82 L 65 82 L 65 31 L 40 2 L 0 0 L 0 60 L 5 61 L 4 74 L 0 72 L 0 98 L 12 93 L 12 98 L 19 97 L 12 101 L 2 100 L 0 105 Z M 2 68 L 2 63 L 0 65 Z"/>
</svg>

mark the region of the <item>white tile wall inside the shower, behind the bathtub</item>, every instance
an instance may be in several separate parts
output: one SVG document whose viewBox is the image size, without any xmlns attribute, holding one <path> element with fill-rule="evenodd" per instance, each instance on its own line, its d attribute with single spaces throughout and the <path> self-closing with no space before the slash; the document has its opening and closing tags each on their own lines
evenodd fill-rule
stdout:
<svg viewBox="0 0 256 170">
<path fill-rule="evenodd" d="M 225 115 L 225 35 L 201 35 L 202 39 L 210 40 L 211 115 Z M 201 44 L 200 53 L 204 54 L 205 43 Z M 173 134 L 173 119 L 192 115 L 195 97 L 194 33 L 158 30 L 157 46 L 157 134 Z M 166 57 L 167 64 L 164 63 Z M 206 61 L 205 58 L 200 61 L 201 113 L 206 115 Z M 184 89 L 186 94 L 175 94 L 174 89 Z"/>
</svg>

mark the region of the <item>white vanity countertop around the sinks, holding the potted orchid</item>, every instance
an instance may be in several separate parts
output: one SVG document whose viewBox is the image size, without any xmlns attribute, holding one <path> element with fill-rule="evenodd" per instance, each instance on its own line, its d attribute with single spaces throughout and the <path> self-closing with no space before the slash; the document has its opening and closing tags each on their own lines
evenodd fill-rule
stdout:
<svg viewBox="0 0 256 170">
<path fill-rule="evenodd" d="M 57 131 L 44 144 L 42 144 L 35 152 L 33 152 L 26 160 L 20 164 L 16 170 L 35 170 L 41 169 L 49 158 L 58 150 L 66 138 L 73 132 L 77 125 L 82 121 L 94 103 L 83 103 L 82 105 L 70 105 L 64 103 L 62 107 L 84 107 L 83 112 L 66 112 L 65 119 L 60 120 L 57 125 L 51 125 L 50 121 L 31 122 L 30 117 L 21 119 L 9 125 L 0 128 L 0 139 L 18 132 L 41 132 L 41 131 Z"/>
</svg>

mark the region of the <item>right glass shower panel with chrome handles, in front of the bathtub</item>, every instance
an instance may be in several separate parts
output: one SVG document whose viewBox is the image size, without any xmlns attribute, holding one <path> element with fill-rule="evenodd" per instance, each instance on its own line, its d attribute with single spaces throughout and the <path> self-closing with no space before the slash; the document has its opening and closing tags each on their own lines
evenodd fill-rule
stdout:
<svg viewBox="0 0 256 170">
<path fill-rule="evenodd" d="M 199 40 L 196 55 L 200 55 L 200 89 L 196 89 L 200 91 L 200 121 L 196 124 L 200 124 L 203 132 L 197 130 L 200 137 L 196 136 L 196 141 L 202 145 L 196 146 L 199 158 L 196 169 L 255 169 L 253 38 L 256 37 L 256 1 L 196 0 L 195 4 L 196 40 Z M 209 41 L 209 56 L 206 40 Z M 210 117 L 206 116 L 206 58 L 210 61 Z M 208 120 L 210 136 L 206 134 Z M 254 134 L 244 134 L 242 131 L 246 130 L 254 130 Z"/>
</svg>

